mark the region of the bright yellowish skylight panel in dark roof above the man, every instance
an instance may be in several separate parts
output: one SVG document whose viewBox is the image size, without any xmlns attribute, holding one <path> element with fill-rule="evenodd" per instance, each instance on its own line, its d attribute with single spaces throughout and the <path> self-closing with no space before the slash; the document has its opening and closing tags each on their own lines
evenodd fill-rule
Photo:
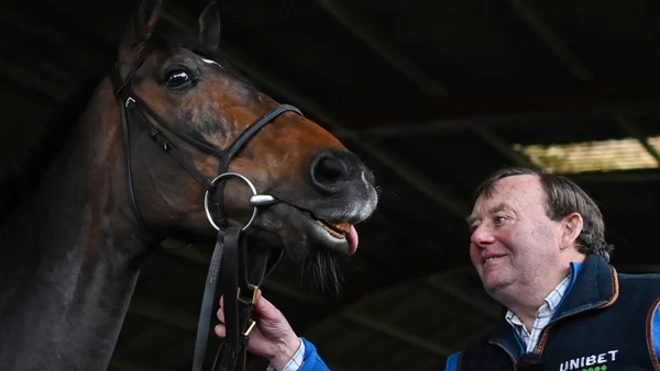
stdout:
<svg viewBox="0 0 660 371">
<path fill-rule="evenodd" d="M 649 145 L 660 151 L 660 136 L 649 137 Z M 536 166 L 554 173 L 578 173 L 654 169 L 658 161 L 634 138 L 563 145 L 514 145 Z"/>
</svg>

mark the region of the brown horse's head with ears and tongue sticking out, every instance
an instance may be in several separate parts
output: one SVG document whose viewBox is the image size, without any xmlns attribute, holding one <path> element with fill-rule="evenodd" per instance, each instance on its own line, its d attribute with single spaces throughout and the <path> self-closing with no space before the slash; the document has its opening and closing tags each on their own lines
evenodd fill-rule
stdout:
<svg viewBox="0 0 660 371">
<path fill-rule="evenodd" d="M 329 132 L 232 68 L 219 48 L 215 2 L 201 12 L 196 37 L 156 33 L 161 11 L 160 0 L 141 3 L 114 79 L 127 116 L 139 109 L 146 122 L 128 123 L 138 218 L 160 237 L 208 239 L 216 235 L 209 222 L 249 223 L 252 183 L 272 198 L 250 223 L 251 236 L 296 260 L 353 254 L 353 226 L 377 203 L 372 172 Z M 213 182 L 226 171 L 243 177 Z"/>
</svg>

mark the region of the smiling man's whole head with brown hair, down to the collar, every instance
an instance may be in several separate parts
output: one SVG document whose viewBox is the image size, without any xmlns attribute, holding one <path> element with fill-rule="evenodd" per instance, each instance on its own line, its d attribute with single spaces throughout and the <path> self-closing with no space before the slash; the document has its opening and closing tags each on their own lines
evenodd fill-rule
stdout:
<svg viewBox="0 0 660 371">
<path fill-rule="evenodd" d="M 468 217 L 470 257 L 484 288 L 510 311 L 507 318 L 521 322 L 525 328 L 532 328 L 547 295 L 568 282 L 570 263 L 584 261 L 581 250 L 610 249 L 603 239 L 604 226 L 595 203 L 568 182 L 548 181 L 556 194 L 562 192 L 560 186 L 566 187 L 564 200 L 557 202 L 560 210 L 548 207 L 546 189 L 537 175 L 516 175 L 487 182 Z M 582 202 L 576 207 L 563 205 L 579 199 Z M 591 243 L 579 240 L 584 218 L 592 225 Z"/>
</svg>

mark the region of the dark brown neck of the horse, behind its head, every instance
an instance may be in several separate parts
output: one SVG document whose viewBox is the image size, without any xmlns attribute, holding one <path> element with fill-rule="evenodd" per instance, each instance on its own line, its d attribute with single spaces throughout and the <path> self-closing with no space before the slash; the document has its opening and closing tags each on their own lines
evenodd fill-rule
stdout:
<svg viewBox="0 0 660 371">
<path fill-rule="evenodd" d="M 2 370 L 107 369 L 148 250 L 134 237 L 119 122 L 103 81 L 0 232 Z"/>
</svg>

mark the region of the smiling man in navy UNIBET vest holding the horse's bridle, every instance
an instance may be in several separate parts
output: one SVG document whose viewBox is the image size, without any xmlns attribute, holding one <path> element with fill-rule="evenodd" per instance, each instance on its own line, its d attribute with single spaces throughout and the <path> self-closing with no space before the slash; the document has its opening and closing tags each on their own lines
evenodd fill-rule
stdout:
<svg viewBox="0 0 660 371">
<path fill-rule="evenodd" d="M 477 189 L 470 257 L 502 323 L 446 364 L 453 370 L 660 370 L 660 276 L 608 265 L 596 203 L 571 180 L 526 168 Z M 328 370 L 271 303 L 256 305 L 250 349 L 272 370 Z M 218 313 L 222 323 L 222 311 Z M 216 328 L 222 337 L 223 327 Z"/>
</svg>

